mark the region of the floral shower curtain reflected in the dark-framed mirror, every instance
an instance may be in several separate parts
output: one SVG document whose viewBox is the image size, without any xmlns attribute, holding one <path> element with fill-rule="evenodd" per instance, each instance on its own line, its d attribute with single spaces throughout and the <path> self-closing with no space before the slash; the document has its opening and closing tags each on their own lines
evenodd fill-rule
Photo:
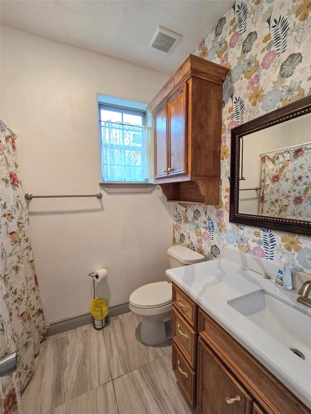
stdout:
<svg viewBox="0 0 311 414">
<path fill-rule="evenodd" d="M 311 218 L 311 144 L 261 156 L 259 214 Z"/>
</svg>

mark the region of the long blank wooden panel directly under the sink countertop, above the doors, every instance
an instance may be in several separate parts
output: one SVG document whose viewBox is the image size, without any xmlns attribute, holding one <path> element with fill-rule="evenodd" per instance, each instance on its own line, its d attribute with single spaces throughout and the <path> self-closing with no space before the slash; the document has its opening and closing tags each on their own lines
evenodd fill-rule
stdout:
<svg viewBox="0 0 311 414">
<path fill-rule="evenodd" d="M 199 309 L 200 336 L 269 414 L 311 414 L 290 390 Z"/>
</svg>

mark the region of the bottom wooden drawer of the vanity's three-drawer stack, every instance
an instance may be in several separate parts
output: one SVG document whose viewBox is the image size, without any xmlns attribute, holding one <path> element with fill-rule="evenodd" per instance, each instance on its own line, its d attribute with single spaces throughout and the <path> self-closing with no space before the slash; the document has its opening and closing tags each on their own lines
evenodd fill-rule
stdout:
<svg viewBox="0 0 311 414">
<path fill-rule="evenodd" d="M 191 406 L 196 405 L 196 373 L 190 367 L 176 344 L 172 344 L 173 372 Z"/>
</svg>

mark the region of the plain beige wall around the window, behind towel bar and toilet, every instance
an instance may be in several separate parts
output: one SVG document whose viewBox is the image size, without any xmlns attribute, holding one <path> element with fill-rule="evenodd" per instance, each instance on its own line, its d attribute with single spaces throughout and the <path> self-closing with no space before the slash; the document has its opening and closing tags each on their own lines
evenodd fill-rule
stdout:
<svg viewBox="0 0 311 414">
<path fill-rule="evenodd" d="M 164 279 L 172 204 L 100 188 L 97 94 L 148 103 L 167 75 L 1 27 L 1 118 L 18 133 L 24 193 L 95 194 L 102 200 L 29 202 L 35 267 L 47 322 L 89 311 L 92 279 L 109 306 Z"/>
</svg>

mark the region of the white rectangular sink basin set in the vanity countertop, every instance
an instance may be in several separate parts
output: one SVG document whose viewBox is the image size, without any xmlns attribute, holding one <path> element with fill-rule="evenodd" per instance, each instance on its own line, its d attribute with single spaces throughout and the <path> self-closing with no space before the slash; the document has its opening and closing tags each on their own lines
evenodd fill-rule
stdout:
<svg viewBox="0 0 311 414">
<path fill-rule="evenodd" d="M 285 347 L 300 351 L 304 361 L 311 364 L 309 313 L 301 312 L 263 289 L 228 300 L 227 303 Z"/>
</svg>

